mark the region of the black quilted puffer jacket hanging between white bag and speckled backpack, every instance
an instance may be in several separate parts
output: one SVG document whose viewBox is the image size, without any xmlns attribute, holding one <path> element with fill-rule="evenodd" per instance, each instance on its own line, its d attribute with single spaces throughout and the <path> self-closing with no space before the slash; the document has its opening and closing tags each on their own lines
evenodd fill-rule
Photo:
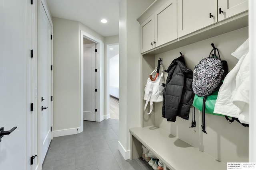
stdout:
<svg viewBox="0 0 256 170">
<path fill-rule="evenodd" d="M 186 67 L 184 57 L 174 59 L 167 70 L 164 88 L 162 115 L 167 121 L 176 121 L 176 116 L 188 120 L 194 92 L 193 71 Z"/>
</svg>

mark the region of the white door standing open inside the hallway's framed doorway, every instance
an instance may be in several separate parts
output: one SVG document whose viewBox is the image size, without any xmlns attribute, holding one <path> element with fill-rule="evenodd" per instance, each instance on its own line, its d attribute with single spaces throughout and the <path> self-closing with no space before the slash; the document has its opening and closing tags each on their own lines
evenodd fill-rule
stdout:
<svg viewBox="0 0 256 170">
<path fill-rule="evenodd" d="M 84 120 L 96 121 L 95 44 L 84 45 Z"/>
</svg>

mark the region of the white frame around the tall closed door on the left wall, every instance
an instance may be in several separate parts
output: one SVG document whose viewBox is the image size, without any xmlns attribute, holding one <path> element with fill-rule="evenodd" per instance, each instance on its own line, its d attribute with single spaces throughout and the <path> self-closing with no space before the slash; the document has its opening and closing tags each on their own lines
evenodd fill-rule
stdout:
<svg viewBox="0 0 256 170">
<path fill-rule="evenodd" d="M 40 23 L 40 7 L 41 7 L 41 5 L 44 7 L 44 10 L 45 10 L 45 12 L 46 12 L 46 16 L 47 16 L 47 18 L 48 18 L 48 20 L 49 20 L 49 22 L 50 22 L 50 25 L 51 25 L 51 27 L 52 27 L 52 30 L 51 30 L 51 32 L 53 33 L 53 23 L 52 23 L 52 19 L 51 19 L 51 16 L 50 16 L 50 12 L 48 11 L 48 9 L 47 9 L 47 5 L 46 5 L 46 3 L 45 3 L 45 0 L 37 0 L 37 2 L 38 2 L 38 8 L 37 8 L 37 23 L 38 23 L 38 27 L 37 27 L 37 29 L 38 29 L 38 35 L 40 35 L 40 25 L 39 25 L 39 23 Z M 40 37 L 38 37 L 38 53 L 37 53 L 37 57 L 39 58 L 40 57 L 40 41 L 41 41 L 41 39 L 40 39 Z M 51 47 L 51 51 L 52 51 L 52 53 L 51 53 L 51 63 L 52 63 L 52 61 L 53 61 L 53 59 L 52 59 L 52 55 L 53 55 L 53 43 L 52 43 L 52 47 Z M 38 62 L 38 65 L 40 64 L 39 62 L 40 61 L 37 61 Z M 52 74 L 52 72 L 51 72 L 51 74 Z M 37 112 L 38 112 L 38 114 L 39 113 L 41 113 L 41 107 L 38 107 L 39 106 L 39 103 L 41 102 L 41 98 L 40 98 L 40 96 L 41 96 L 41 94 L 40 94 L 40 80 L 41 80 L 41 77 L 40 77 L 40 74 L 38 75 L 38 67 L 37 67 Z M 52 81 L 52 77 L 51 77 L 51 81 Z M 53 82 L 53 81 L 52 81 Z M 51 93 L 53 92 L 53 86 L 51 86 Z M 50 114 L 51 114 L 51 126 L 52 126 L 52 124 L 53 124 L 53 101 L 51 101 L 51 106 L 50 106 L 50 108 L 51 108 L 51 110 L 49 111 L 50 112 Z M 40 160 L 41 160 L 41 128 L 40 128 L 40 116 L 38 116 L 38 120 L 37 120 L 38 122 L 38 129 L 37 129 L 37 134 L 38 134 L 38 138 L 37 138 L 37 146 L 38 146 L 38 165 L 39 165 L 39 170 L 41 170 L 41 167 L 42 167 L 42 163 L 43 162 L 41 162 Z M 51 134 L 51 139 L 53 139 L 53 133 Z"/>
</svg>

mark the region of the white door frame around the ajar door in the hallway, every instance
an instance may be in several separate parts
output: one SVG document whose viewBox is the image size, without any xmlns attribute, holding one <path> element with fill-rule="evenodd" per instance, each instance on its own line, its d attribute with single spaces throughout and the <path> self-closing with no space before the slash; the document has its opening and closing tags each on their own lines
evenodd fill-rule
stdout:
<svg viewBox="0 0 256 170">
<path fill-rule="evenodd" d="M 97 83 L 97 89 L 98 92 L 96 94 L 97 98 L 97 109 L 98 111 L 96 112 L 96 121 L 102 121 L 104 119 L 103 117 L 103 111 L 104 111 L 104 54 L 103 54 L 103 42 L 100 39 L 97 39 L 93 37 L 92 35 L 84 32 L 81 30 L 81 53 L 80 53 L 80 86 L 79 86 L 79 92 L 81 94 L 80 96 L 80 120 L 81 120 L 81 131 L 83 131 L 83 94 L 84 94 L 84 89 L 83 83 L 84 83 L 84 38 L 89 39 L 90 41 L 96 43 L 96 48 L 97 48 L 97 59 L 96 59 L 96 66 L 97 66 L 97 78 L 96 78 L 96 83 Z"/>
</svg>

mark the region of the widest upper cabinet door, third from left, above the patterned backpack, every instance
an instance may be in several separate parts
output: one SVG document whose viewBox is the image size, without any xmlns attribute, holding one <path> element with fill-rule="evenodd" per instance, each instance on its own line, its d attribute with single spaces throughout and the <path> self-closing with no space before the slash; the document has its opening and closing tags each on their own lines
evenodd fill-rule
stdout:
<svg viewBox="0 0 256 170">
<path fill-rule="evenodd" d="M 178 0 L 177 15 L 182 37 L 217 22 L 217 0 Z"/>
</svg>

